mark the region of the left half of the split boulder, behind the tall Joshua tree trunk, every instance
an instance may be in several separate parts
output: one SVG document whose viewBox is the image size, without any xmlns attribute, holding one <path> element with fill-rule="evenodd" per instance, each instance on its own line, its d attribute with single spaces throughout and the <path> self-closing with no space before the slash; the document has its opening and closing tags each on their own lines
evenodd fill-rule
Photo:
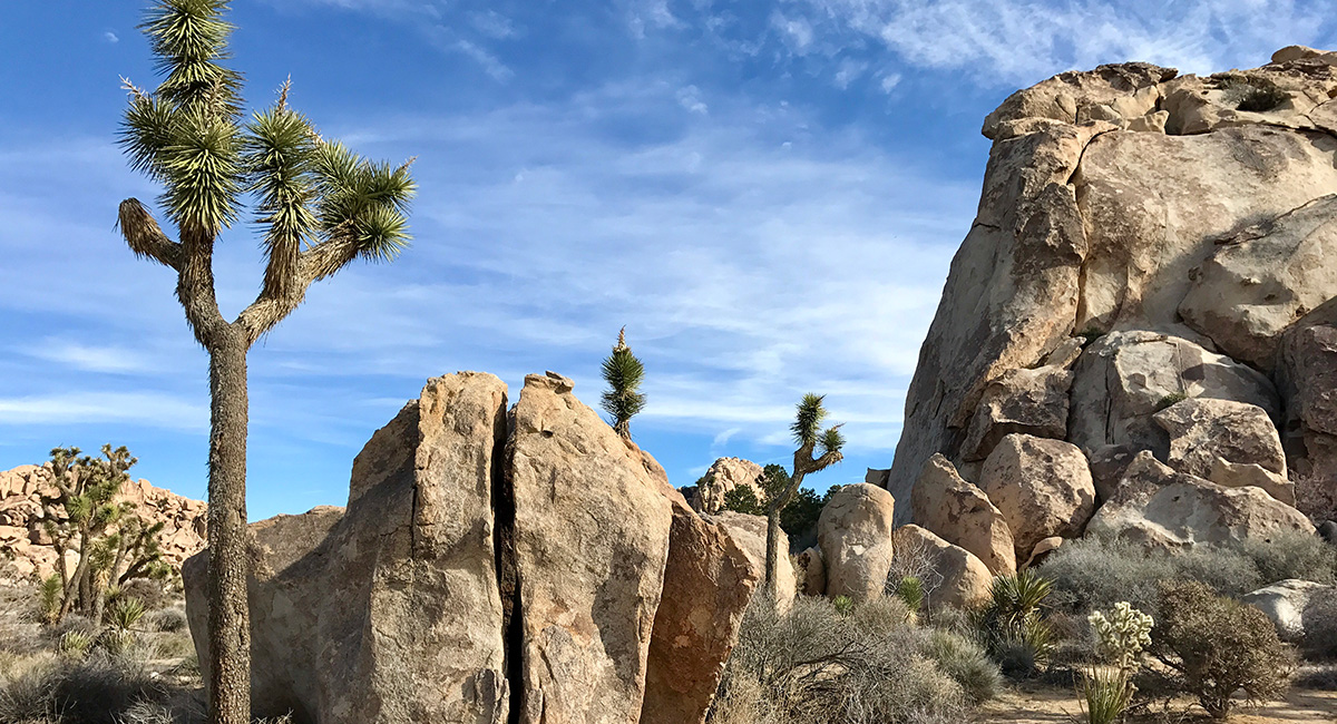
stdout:
<svg viewBox="0 0 1337 724">
<path fill-rule="evenodd" d="M 505 407 L 496 377 L 431 379 L 357 456 L 342 516 L 317 509 L 251 526 L 257 716 L 505 720 L 492 510 Z M 207 576 L 207 552 L 183 568 L 189 609 L 202 608 Z M 207 668 L 207 616 L 191 618 Z"/>
</svg>

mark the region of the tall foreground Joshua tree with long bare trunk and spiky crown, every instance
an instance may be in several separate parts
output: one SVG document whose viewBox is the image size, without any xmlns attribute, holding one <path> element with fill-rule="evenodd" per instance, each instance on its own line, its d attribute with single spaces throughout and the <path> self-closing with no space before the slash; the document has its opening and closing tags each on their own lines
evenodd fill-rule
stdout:
<svg viewBox="0 0 1337 724">
<path fill-rule="evenodd" d="M 246 724 L 250 625 L 246 608 L 246 354 L 302 303 L 306 289 L 354 259 L 390 260 L 406 246 L 409 163 L 374 163 L 326 140 L 287 106 L 242 115 L 242 77 L 222 64 L 233 31 L 226 0 L 158 0 L 142 29 L 163 80 L 124 81 L 120 144 L 130 164 L 163 186 L 171 239 L 138 199 L 120 203 L 120 231 L 138 256 L 176 273 L 176 298 L 209 351 L 210 721 Z M 259 295 L 229 322 L 214 295 L 214 243 L 242 218 L 242 196 L 266 266 Z"/>
</svg>

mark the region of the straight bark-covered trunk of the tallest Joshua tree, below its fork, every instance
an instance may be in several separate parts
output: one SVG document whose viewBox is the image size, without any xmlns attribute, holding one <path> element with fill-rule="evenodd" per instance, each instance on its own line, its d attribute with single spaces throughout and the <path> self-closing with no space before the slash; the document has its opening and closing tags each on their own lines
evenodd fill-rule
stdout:
<svg viewBox="0 0 1337 724">
<path fill-rule="evenodd" d="M 214 724 L 249 724 L 246 600 L 246 334 L 225 326 L 210 346 L 209 691 Z"/>
</svg>

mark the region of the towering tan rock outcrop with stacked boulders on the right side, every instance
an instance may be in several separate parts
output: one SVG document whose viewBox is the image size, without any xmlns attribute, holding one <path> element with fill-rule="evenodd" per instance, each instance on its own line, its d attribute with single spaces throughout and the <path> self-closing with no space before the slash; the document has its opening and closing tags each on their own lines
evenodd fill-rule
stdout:
<svg viewBox="0 0 1337 724">
<path fill-rule="evenodd" d="M 1206 77 L 1102 65 L 993 111 L 979 211 L 920 349 L 886 489 L 913 500 L 941 456 L 1003 513 L 1019 562 L 1042 538 L 1082 534 L 1096 505 L 1123 498 L 1103 525 L 1158 516 L 1142 505 L 1162 497 L 1119 489 L 1146 477 L 1128 472 L 1142 453 L 1191 478 L 1182 490 L 1199 505 L 1267 509 L 1241 513 L 1254 522 L 1239 530 L 1298 525 L 1289 476 L 1337 469 L 1334 59 L 1286 48 Z M 991 466 L 1019 434 L 1071 443 L 1072 466 L 1090 469 L 1096 500 L 1063 526 L 1028 521 L 1016 500 L 1031 477 L 1000 482 Z M 1281 508 L 1245 502 L 1263 490 Z M 931 514 L 901 505 L 897 525 Z M 1214 516 L 1146 533 L 1243 534 L 1222 528 L 1235 514 Z"/>
</svg>

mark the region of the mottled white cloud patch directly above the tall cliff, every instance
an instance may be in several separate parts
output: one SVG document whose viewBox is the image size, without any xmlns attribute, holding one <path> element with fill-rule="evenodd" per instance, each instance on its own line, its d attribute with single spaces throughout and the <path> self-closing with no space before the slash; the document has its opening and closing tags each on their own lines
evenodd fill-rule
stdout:
<svg viewBox="0 0 1337 724">
<path fill-rule="evenodd" d="M 796 0 L 787 12 L 813 25 L 814 44 L 854 33 L 912 65 L 1016 84 L 1126 60 L 1186 72 L 1262 64 L 1282 45 L 1332 40 L 1337 3 L 1186 0 L 1166 12 L 1140 0 Z"/>
</svg>

